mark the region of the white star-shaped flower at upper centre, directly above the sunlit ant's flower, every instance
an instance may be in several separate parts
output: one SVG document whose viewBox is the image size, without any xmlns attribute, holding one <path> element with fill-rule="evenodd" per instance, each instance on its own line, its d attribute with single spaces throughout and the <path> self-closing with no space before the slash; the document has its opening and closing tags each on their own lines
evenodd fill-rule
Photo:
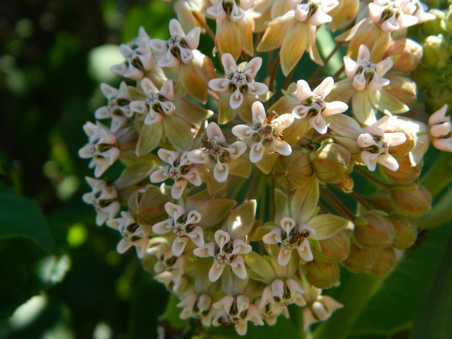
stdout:
<svg viewBox="0 0 452 339">
<path fill-rule="evenodd" d="M 268 92 L 268 86 L 255 82 L 257 72 L 262 66 L 262 58 L 257 56 L 251 59 L 243 71 L 239 71 L 234 57 L 225 53 L 221 56 L 221 63 L 226 78 L 217 78 L 209 81 L 209 87 L 220 93 L 231 92 L 229 105 L 232 109 L 239 108 L 243 103 L 244 94 L 257 96 Z"/>
</svg>

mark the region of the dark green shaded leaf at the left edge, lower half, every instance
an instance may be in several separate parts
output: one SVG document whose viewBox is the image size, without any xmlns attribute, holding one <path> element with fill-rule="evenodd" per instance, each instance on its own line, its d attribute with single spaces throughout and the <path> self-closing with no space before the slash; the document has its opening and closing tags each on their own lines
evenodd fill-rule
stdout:
<svg viewBox="0 0 452 339">
<path fill-rule="evenodd" d="M 55 252 L 55 244 L 38 207 L 27 198 L 0 192 L 0 239 L 26 237 L 47 252 Z"/>
</svg>

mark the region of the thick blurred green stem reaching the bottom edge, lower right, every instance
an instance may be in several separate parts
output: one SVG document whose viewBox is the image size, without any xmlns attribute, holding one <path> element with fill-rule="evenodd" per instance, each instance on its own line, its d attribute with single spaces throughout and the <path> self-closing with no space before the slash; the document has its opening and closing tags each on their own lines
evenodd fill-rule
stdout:
<svg viewBox="0 0 452 339">
<path fill-rule="evenodd" d="M 337 298 L 344 308 L 337 310 L 314 331 L 313 339 L 346 338 L 367 302 L 380 288 L 382 279 L 365 273 L 352 274 Z"/>
</svg>

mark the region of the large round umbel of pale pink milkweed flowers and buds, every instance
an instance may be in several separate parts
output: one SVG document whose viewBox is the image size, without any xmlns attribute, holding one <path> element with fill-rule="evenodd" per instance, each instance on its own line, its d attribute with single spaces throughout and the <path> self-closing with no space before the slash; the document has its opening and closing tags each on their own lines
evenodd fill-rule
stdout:
<svg viewBox="0 0 452 339">
<path fill-rule="evenodd" d="M 430 143 L 452 151 L 450 89 L 435 109 L 416 106 L 410 76 L 432 91 L 423 76 L 450 45 L 405 38 L 434 19 L 417 0 L 358 2 L 178 0 L 168 38 L 141 27 L 111 66 L 126 79 L 100 85 L 102 122 L 84 125 L 79 151 L 96 178 L 83 200 L 203 334 L 328 321 L 347 306 L 323 291 L 340 285 L 340 268 L 386 277 L 431 208 L 418 178 Z M 321 55 L 330 27 L 352 28 Z M 201 34 L 218 55 L 198 50 Z M 326 73 L 344 42 L 344 64 Z M 322 66 L 301 79 L 314 65 L 305 52 Z M 365 195 L 352 176 L 377 188 Z"/>
</svg>

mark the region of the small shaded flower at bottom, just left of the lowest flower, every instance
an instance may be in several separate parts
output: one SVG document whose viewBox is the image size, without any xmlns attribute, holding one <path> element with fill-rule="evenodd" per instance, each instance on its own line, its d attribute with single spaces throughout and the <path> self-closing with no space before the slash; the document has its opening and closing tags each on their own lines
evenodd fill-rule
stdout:
<svg viewBox="0 0 452 339">
<path fill-rule="evenodd" d="M 180 319 L 195 318 L 201 320 L 203 326 L 210 326 L 217 310 L 212 307 L 212 297 L 207 293 L 191 294 L 181 300 L 176 307 L 184 307 Z"/>
</svg>

